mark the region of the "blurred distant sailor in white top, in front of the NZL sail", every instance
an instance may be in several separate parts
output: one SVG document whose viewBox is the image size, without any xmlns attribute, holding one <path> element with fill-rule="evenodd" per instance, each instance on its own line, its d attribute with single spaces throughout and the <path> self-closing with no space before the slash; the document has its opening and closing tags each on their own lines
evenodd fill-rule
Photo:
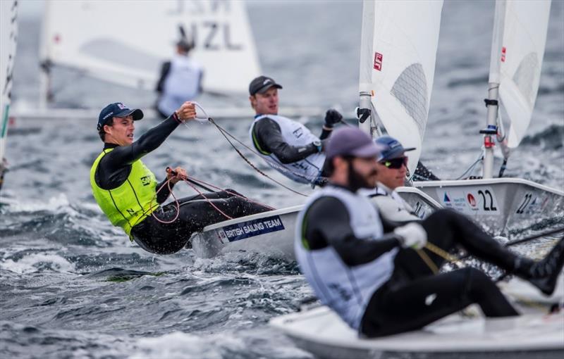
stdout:
<svg viewBox="0 0 564 359">
<path fill-rule="evenodd" d="M 176 43 L 176 56 L 161 67 L 161 76 L 157 83 L 157 112 L 162 118 L 172 115 L 184 101 L 195 99 L 202 92 L 204 70 L 197 61 L 188 56 L 192 48 L 188 39 L 180 39 Z"/>
</svg>

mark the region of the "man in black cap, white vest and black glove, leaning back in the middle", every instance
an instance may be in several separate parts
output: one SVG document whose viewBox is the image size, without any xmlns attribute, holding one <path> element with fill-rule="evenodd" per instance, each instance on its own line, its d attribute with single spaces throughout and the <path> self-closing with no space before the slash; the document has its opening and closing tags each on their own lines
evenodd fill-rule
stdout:
<svg viewBox="0 0 564 359">
<path fill-rule="evenodd" d="M 249 84 L 249 100 L 256 113 L 249 131 L 252 144 L 266 163 L 291 180 L 319 184 L 324 140 L 343 116 L 327 111 L 321 137 L 317 137 L 300 122 L 278 115 L 278 89 L 282 86 L 266 76 Z"/>
</svg>

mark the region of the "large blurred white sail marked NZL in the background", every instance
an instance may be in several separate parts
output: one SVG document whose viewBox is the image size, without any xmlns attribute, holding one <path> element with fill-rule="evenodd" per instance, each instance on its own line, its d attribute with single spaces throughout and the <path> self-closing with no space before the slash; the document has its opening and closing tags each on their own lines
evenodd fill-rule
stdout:
<svg viewBox="0 0 564 359">
<path fill-rule="evenodd" d="M 92 77 L 152 90 L 183 25 L 204 66 L 204 90 L 246 92 L 259 61 L 245 4 L 215 1 L 46 2 L 40 57 Z"/>
</svg>

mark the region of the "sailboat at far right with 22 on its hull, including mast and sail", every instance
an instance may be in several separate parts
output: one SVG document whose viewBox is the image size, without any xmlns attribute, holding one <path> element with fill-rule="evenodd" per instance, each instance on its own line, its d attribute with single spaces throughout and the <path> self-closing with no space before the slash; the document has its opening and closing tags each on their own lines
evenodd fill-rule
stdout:
<svg viewBox="0 0 564 359">
<path fill-rule="evenodd" d="M 564 213 L 564 191 L 502 177 L 510 149 L 519 145 L 531 121 L 550 8 L 550 0 L 496 1 L 487 127 L 480 131 L 484 134 L 482 179 L 413 182 L 441 205 L 460 210 L 496 234 L 562 218 Z M 508 134 L 503 133 L 503 122 L 498 117 L 498 94 L 511 122 Z M 493 178 L 496 140 L 504 160 L 498 178 Z"/>
</svg>

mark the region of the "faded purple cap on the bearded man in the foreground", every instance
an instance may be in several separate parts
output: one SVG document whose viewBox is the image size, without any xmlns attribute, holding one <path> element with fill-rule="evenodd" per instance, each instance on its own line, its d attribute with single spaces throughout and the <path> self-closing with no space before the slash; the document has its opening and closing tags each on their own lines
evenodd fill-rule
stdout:
<svg viewBox="0 0 564 359">
<path fill-rule="evenodd" d="M 356 127 L 343 127 L 329 137 L 325 151 L 326 158 L 355 156 L 370 158 L 379 156 L 380 151 L 372 138 Z"/>
</svg>

